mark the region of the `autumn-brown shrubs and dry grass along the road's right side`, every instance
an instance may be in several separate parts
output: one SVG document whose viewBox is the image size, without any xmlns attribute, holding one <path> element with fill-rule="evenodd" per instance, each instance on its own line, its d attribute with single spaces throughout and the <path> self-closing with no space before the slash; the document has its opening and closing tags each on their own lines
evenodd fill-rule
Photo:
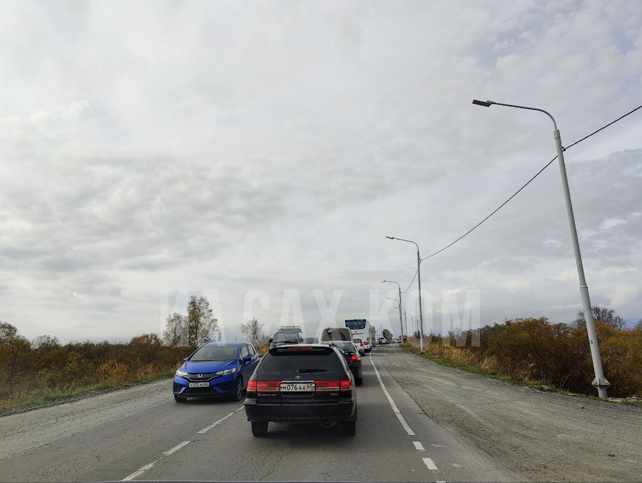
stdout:
<svg viewBox="0 0 642 483">
<path fill-rule="evenodd" d="M 642 331 L 596 321 L 609 396 L 642 397 Z M 449 340 L 424 338 L 424 351 L 462 364 L 559 389 L 594 394 L 593 361 L 586 327 L 551 324 L 546 317 L 514 319 L 476 331 L 453 331 Z M 479 340 L 474 347 L 472 340 Z M 410 340 L 419 347 L 419 339 Z"/>
</svg>

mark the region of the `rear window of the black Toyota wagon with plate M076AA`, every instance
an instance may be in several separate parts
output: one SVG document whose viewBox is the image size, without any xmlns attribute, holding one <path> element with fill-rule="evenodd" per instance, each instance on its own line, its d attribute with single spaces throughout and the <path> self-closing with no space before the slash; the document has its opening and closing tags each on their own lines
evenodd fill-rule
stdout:
<svg viewBox="0 0 642 483">
<path fill-rule="evenodd" d="M 263 356 L 258 374 L 338 373 L 341 361 L 334 351 L 279 351 Z M 313 371 L 315 369 L 315 371 Z"/>
</svg>

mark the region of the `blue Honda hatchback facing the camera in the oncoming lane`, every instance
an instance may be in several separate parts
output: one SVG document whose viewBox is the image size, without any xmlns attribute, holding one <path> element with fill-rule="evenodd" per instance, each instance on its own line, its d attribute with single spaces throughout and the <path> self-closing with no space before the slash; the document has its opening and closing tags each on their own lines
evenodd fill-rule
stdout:
<svg viewBox="0 0 642 483">
<path fill-rule="evenodd" d="M 240 401 L 260 357 L 248 342 L 208 342 L 185 358 L 174 376 L 174 399 L 230 396 Z"/>
</svg>

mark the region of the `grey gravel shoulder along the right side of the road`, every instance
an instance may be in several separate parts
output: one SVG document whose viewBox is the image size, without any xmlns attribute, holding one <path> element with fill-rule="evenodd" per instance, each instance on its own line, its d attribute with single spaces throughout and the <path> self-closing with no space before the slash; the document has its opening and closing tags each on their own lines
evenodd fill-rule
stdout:
<svg viewBox="0 0 642 483">
<path fill-rule="evenodd" d="M 642 408 L 517 387 L 399 347 L 377 362 L 434 421 L 528 481 L 642 481 Z"/>
</svg>

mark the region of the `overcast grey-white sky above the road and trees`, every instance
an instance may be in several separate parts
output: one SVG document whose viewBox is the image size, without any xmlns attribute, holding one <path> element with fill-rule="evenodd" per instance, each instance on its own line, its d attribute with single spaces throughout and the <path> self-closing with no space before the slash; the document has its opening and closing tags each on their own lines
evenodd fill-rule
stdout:
<svg viewBox="0 0 642 483">
<path fill-rule="evenodd" d="M 0 65 L 0 320 L 128 338 L 209 294 L 233 338 L 261 290 L 252 315 L 269 330 L 285 301 L 316 331 L 320 294 L 337 321 L 399 333 L 396 286 L 380 282 L 406 288 L 416 253 L 385 236 L 427 256 L 555 155 L 544 114 L 471 100 L 550 110 L 570 145 L 642 103 L 642 9 L 14 1 Z M 642 110 L 566 163 L 591 299 L 641 318 Z M 482 324 L 573 320 L 557 162 L 421 281 L 427 319 L 444 294 L 463 310 L 477 293 Z M 418 316 L 415 288 L 403 303 Z"/>
</svg>

